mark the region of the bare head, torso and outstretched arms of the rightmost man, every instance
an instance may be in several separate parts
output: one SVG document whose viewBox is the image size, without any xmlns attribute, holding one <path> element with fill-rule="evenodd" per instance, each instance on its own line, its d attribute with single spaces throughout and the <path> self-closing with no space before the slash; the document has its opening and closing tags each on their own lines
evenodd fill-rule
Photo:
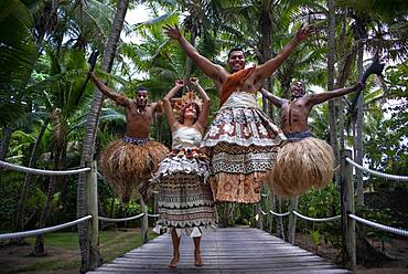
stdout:
<svg viewBox="0 0 408 274">
<path fill-rule="evenodd" d="M 308 117 L 313 106 L 324 103 L 329 99 L 347 95 L 352 92 L 363 88 L 362 83 L 357 83 L 352 87 L 335 89 L 320 94 L 304 95 L 304 87 L 300 87 L 299 82 L 292 87 L 292 98 L 284 99 L 267 92 L 265 88 L 260 93 L 268 98 L 275 106 L 281 107 L 281 128 L 284 134 L 299 133 L 308 130 Z"/>
</svg>

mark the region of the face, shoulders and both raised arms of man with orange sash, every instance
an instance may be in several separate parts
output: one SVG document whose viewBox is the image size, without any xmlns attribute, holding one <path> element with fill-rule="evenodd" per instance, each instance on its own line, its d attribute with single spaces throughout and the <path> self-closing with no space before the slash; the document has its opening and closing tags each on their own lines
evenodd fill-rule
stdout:
<svg viewBox="0 0 408 274">
<path fill-rule="evenodd" d="M 232 52 L 228 59 L 229 71 L 226 71 L 223 66 L 214 64 L 201 55 L 197 50 L 181 34 L 178 25 L 167 25 L 164 27 L 164 30 L 169 38 L 179 41 L 185 53 L 200 66 L 205 75 L 214 81 L 218 91 L 218 95 L 221 94 L 223 85 L 228 76 L 232 73 L 245 68 L 246 60 L 244 52 L 241 51 Z M 311 28 L 301 27 L 292 41 L 289 42 L 278 55 L 255 68 L 255 72 L 244 82 L 240 91 L 248 93 L 255 93 L 258 91 L 262 86 L 264 81 L 280 66 L 280 64 L 294 51 L 296 46 L 301 41 L 310 36 L 313 32 L 314 30 Z"/>
</svg>

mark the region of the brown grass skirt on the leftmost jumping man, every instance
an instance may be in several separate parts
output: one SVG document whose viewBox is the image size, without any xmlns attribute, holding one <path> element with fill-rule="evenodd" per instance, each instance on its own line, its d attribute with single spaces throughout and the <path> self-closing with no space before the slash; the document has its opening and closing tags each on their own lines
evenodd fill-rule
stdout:
<svg viewBox="0 0 408 274">
<path fill-rule="evenodd" d="M 99 166 L 114 192 L 122 201 L 129 201 L 148 183 L 168 152 L 169 149 L 157 141 L 138 146 L 118 139 L 104 149 Z"/>
</svg>

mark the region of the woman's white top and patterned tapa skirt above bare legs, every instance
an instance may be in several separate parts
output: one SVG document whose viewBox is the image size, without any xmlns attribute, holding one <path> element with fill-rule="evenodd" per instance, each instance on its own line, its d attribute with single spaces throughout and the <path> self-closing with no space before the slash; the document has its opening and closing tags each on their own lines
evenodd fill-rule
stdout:
<svg viewBox="0 0 408 274">
<path fill-rule="evenodd" d="M 197 152 L 201 140 L 201 133 L 192 127 L 173 133 L 173 152 L 152 179 L 159 189 L 160 225 L 184 229 L 214 223 L 208 165 Z"/>
</svg>

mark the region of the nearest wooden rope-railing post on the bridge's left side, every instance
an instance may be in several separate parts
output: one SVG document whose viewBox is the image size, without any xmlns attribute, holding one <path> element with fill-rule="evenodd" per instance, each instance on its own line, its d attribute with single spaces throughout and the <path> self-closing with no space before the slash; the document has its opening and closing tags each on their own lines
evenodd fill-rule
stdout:
<svg viewBox="0 0 408 274">
<path fill-rule="evenodd" d="M 98 177 L 97 165 L 94 160 L 87 176 L 88 214 L 93 217 L 88 223 L 88 268 L 95 270 L 100 265 L 99 257 L 99 222 L 98 222 Z"/>
</svg>

